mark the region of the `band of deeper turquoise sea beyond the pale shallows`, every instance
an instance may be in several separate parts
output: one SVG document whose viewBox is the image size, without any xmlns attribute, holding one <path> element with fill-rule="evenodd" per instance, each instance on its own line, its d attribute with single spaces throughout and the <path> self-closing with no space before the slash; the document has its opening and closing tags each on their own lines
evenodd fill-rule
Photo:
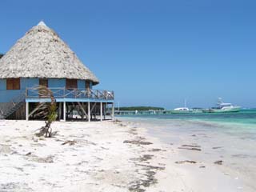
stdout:
<svg viewBox="0 0 256 192">
<path fill-rule="evenodd" d="M 199 123 L 204 130 L 218 130 L 223 133 L 250 134 L 250 138 L 256 140 L 256 109 L 241 110 L 238 113 L 223 114 L 150 114 L 150 115 L 130 115 L 120 116 L 133 119 L 134 121 L 151 122 L 157 121 L 160 124 L 171 126 L 172 122 L 182 122 L 182 124 Z M 173 121 L 172 121 L 173 120 Z M 200 124 L 201 122 L 201 124 Z M 170 123 L 170 124 L 168 124 Z M 186 125 L 187 126 L 187 125 Z M 214 128 L 213 128 L 214 127 Z M 185 126 L 179 126 L 179 129 Z M 187 129 L 186 129 L 187 130 Z M 190 130 L 193 130 L 190 127 Z M 238 135 L 239 136 L 239 135 Z"/>
</svg>

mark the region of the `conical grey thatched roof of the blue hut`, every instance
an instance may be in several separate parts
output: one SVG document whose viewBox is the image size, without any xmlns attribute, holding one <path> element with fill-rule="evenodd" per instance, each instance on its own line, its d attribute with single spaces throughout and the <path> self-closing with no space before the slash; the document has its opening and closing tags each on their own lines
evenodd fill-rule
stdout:
<svg viewBox="0 0 256 192">
<path fill-rule="evenodd" d="M 70 47 L 39 22 L 0 59 L 0 78 L 74 78 L 98 84 Z"/>
</svg>

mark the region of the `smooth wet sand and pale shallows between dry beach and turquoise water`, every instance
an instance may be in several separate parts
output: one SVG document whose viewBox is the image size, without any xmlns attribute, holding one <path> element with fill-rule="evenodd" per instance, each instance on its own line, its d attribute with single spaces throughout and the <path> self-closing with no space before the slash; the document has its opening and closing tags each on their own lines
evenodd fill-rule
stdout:
<svg viewBox="0 0 256 192">
<path fill-rule="evenodd" d="M 133 122 L 138 127 L 147 127 L 147 133 L 160 140 L 167 151 L 166 172 L 177 173 L 179 180 L 186 186 L 184 191 L 256 190 L 256 175 L 253 171 L 255 158 L 251 155 L 235 155 L 246 154 L 247 151 L 253 154 L 254 150 L 249 150 L 250 141 L 242 142 L 244 146 L 240 138 L 222 134 L 215 127 L 208 127 L 212 124 L 207 124 L 206 128 L 200 127 L 205 127 L 201 122 L 170 120 L 166 123 L 164 119 L 120 119 Z"/>
</svg>

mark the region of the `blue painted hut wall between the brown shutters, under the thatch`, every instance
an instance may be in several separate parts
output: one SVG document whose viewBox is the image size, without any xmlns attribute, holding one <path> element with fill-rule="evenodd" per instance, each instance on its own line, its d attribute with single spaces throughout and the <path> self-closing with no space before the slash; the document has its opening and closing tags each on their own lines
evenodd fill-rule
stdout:
<svg viewBox="0 0 256 192">
<path fill-rule="evenodd" d="M 21 90 L 6 90 L 6 79 L 0 79 L 0 102 L 10 102 L 12 98 L 18 97 L 18 95 L 25 93 L 26 87 L 33 87 L 39 85 L 38 78 L 21 78 Z M 66 86 L 65 78 L 50 78 L 48 79 L 48 87 L 50 88 L 62 88 Z M 78 80 L 78 89 L 84 90 L 86 88 L 85 80 Z M 92 82 L 90 82 L 90 88 L 92 89 Z"/>
</svg>

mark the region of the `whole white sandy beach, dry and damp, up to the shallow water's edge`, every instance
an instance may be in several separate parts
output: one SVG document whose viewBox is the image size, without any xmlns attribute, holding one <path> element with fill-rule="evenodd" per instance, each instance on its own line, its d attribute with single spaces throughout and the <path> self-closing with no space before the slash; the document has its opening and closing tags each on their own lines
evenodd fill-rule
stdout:
<svg viewBox="0 0 256 192">
<path fill-rule="evenodd" d="M 54 122 L 54 138 L 34 137 L 43 125 L 0 122 L 0 191 L 246 191 L 136 123 Z"/>
</svg>

